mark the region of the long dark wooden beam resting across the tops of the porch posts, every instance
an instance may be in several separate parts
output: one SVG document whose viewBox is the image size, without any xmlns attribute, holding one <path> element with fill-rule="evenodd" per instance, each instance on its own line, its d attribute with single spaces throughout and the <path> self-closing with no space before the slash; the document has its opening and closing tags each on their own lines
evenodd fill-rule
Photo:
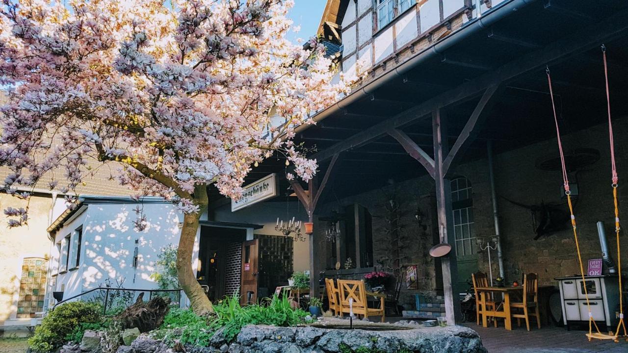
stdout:
<svg viewBox="0 0 628 353">
<path fill-rule="evenodd" d="M 357 148 L 372 139 L 382 136 L 388 129 L 399 128 L 400 126 L 421 119 L 427 114 L 430 114 L 435 107 L 445 107 L 459 102 L 460 100 L 468 99 L 468 97 L 473 97 L 483 92 L 491 85 L 511 80 L 522 73 L 539 69 L 544 67 L 547 63 L 555 62 L 561 58 L 582 52 L 585 49 L 596 48 L 604 41 L 609 41 L 617 36 L 624 35 L 625 31 L 628 30 L 628 21 L 625 21 L 627 14 L 628 11 L 621 11 L 615 13 L 614 16 L 604 19 L 604 21 L 600 23 L 585 26 L 580 30 L 573 31 L 561 40 L 550 43 L 534 52 L 522 55 L 516 60 L 506 63 L 496 70 L 485 73 L 477 79 L 464 82 L 452 90 L 443 92 L 418 106 L 375 124 L 371 126 L 371 128 L 354 134 L 354 136 L 328 149 L 315 153 L 311 157 L 316 158 L 318 161 L 327 160 L 338 152 Z"/>
</svg>

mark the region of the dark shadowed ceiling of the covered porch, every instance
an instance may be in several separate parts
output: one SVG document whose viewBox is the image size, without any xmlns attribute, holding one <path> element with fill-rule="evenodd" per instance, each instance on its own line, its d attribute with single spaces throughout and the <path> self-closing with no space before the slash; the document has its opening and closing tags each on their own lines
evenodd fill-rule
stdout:
<svg viewBox="0 0 628 353">
<path fill-rule="evenodd" d="M 405 77 L 381 85 L 370 97 L 334 112 L 299 133 L 295 142 L 315 149 L 313 156 L 320 160 L 323 171 L 328 158 L 342 151 L 335 178 L 328 185 L 328 192 L 338 198 L 381 187 L 388 180 L 399 182 L 425 175 L 425 169 L 401 144 L 373 127 L 384 126 L 384 121 L 408 115 L 426 102 L 452 92 L 449 101 L 453 103 L 445 108 L 452 146 L 482 95 L 482 89 L 477 89 L 482 82 L 505 75 L 506 68 L 524 59 L 533 62 L 544 58 L 536 53 L 548 53 L 549 48 L 560 53 L 561 48 L 577 46 L 581 40 L 595 44 L 584 45 L 577 52 L 565 50 L 565 55 L 557 55 L 551 62 L 539 62 L 542 65 L 521 65 L 521 72 L 506 77 L 506 88 L 487 112 L 486 122 L 462 162 L 485 158 L 487 140 L 494 141 L 496 153 L 503 153 L 555 136 L 545 63 L 551 69 L 563 134 L 604 122 L 602 43 L 609 55 L 612 114 L 628 116 L 625 18 L 628 3 L 623 0 L 598 2 L 595 6 L 587 0 L 538 0 L 491 27 L 468 35 L 442 55 L 412 68 Z M 462 35 L 463 31 L 465 28 L 452 36 Z M 555 43 L 560 45 L 553 46 Z M 430 114 L 415 114 L 413 118 L 416 119 L 396 127 L 433 156 Z M 358 139 L 369 128 L 375 129 L 375 133 Z M 284 168 L 284 160 L 271 158 L 254 168 L 246 183 L 272 172 L 283 175 Z M 280 190 L 286 188 L 288 183 L 283 181 Z"/>
</svg>

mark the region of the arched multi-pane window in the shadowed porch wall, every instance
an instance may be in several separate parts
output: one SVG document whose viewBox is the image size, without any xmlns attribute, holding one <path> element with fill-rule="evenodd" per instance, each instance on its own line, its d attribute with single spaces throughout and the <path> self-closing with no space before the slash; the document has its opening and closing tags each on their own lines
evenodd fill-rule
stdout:
<svg viewBox="0 0 628 353">
<path fill-rule="evenodd" d="M 452 180 L 453 230 L 457 256 L 470 256 L 475 249 L 473 197 L 471 183 L 460 176 Z"/>
</svg>

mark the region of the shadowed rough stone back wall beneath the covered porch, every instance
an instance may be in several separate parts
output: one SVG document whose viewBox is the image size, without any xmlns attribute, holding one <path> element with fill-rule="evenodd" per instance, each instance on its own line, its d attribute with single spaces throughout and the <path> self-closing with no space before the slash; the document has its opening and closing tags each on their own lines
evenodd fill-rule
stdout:
<svg viewBox="0 0 628 353">
<path fill-rule="evenodd" d="M 614 122 L 615 136 L 628 131 L 628 118 Z M 605 124 L 567 134 L 564 132 L 563 144 L 566 151 L 573 148 L 595 148 L 600 151 L 600 160 L 582 168 L 577 173 L 570 173 L 572 183 L 578 183 L 580 195 L 574 198 L 575 214 L 578 222 L 580 249 L 587 270 L 587 260 L 601 258 L 596 222 L 602 220 L 609 244 L 610 253 L 616 256 L 614 209 L 612 188 L 610 186 L 610 157 L 608 151 L 608 130 Z M 625 197 L 626 188 L 621 182 L 622 175 L 628 173 L 628 141 L 616 139 L 617 168 L 620 176 L 618 188 L 620 219 L 627 219 Z M 499 222 L 501 224 L 501 242 L 504 251 L 504 267 L 508 282 L 519 280 L 523 273 L 539 274 L 541 285 L 555 285 L 558 276 L 578 274 L 580 268 L 575 251 L 573 232 L 569 224 L 563 231 L 554 232 L 534 240 L 533 216 L 531 211 L 507 201 L 525 205 L 541 203 L 558 205 L 567 210 L 566 200 L 561 198 L 562 178 L 560 171 L 545 171 L 536 167 L 538 160 L 557 155 L 556 139 L 531 144 L 524 148 L 501 153 L 494 158 L 495 185 Z M 416 165 L 420 168 L 420 165 Z M 486 159 L 464 163 L 455 170 L 454 176 L 465 176 L 472 183 L 474 205 L 474 229 L 480 236 L 495 234 L 490 197 L 489 166 Z M 353 197 L 340 200 L 340 206 L 358 203 L 367 207 L 371 214 L 373 242 L 380 244 L 374 249 L 374 259 L 379 260 L 384 269 L 392 272 L 394 249 L 386 233 L 387 200 L 396 198 L 401 206 L 401 229 L 404 246 L 401 252 L 402 264 L 417 264 L 419 268 L 419 290 L 408 291 L 402 286 L 401 303 L 413 303 L 414 294 L 431 294 L 441 288 L 437 280 L 440 277 L 440 264 L 428 254 L 430 247 L 438 242 L 438 229 L 435 229 L 435 199 L 433 180 L 428 176 L 389 185 L 381 190 L 371 190 Z M 325 205 L 318 211 L 325 215 L 338 207 L 338 203 Z M 419 224 L 414 215 L 416 210 L 425 215 L 423 224 Z M 628 239 L 621 237 L 621 246 L 628 249 Z M 487 253 L 478 254 L 480 271 L 488 273 Z M 497 254 L 492 253 L 493 274 L 499 275 Z M 628 257 L 622 258 L 622 267 L 628 268 Z"/>
</svg>

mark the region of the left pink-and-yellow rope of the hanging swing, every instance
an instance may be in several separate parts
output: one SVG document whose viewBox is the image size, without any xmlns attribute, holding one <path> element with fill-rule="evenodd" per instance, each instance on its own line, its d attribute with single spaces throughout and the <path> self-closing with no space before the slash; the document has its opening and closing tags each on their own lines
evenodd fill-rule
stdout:
<svg viewBox="0 0 628 353">
<path fill-rule="evenodd" d="M 615 339 L 615 335 L 605 335 L 600 332 L 600 328 L 593 320 L 593 314 L 591 313 L 591 305 L 588 298 L 587 286 L 585 285 L 585 270 L 582 264 L 582 255 L 580 254 L 580 242 L 578 242 L 578 231 L 576 226 L 576 216 L 573 214 L 573 204 L 571 204 L 571 191 L 569 190 L 569 177 L 567 175 L 567 168 L 565 165 L 565 154 L 563 153 L 563 143 L 560 138 L 560 128 L 558 127 L 558 117 L 556 116 L 556 104 L 554 102 L 554 92 L 551 85 L 551 75 L 549 74 L 549 67 L 546 67 L 545 72 L 548 76 L 549 85 L 549 97 L 551 97 L 551 106 L 554 113 L 554 122 L 556 124 L 556 138 L 558 138 L 558 152 L 560 153 L 560 163 L 563 171 L 563 187 L 565 188 L 565 195 L 567 195 L 567 204 L 569 205 L 569 212 L 571 214 L 571 227 L 573 228 L 573 239 L 576 243 L 576 251 L 578 253 L 578 264 L 580 264 L 580 274 L 582 276 L 583 290 L 585 291 L 585 298 L 587 298 L 587 310 L 588 310 L 588 325 L 589 333 L 587 337 L 589 340 L 595 339 Z M 593 333 L 593 327 L 595 327 L 596 333 Z"/>
</svg>

